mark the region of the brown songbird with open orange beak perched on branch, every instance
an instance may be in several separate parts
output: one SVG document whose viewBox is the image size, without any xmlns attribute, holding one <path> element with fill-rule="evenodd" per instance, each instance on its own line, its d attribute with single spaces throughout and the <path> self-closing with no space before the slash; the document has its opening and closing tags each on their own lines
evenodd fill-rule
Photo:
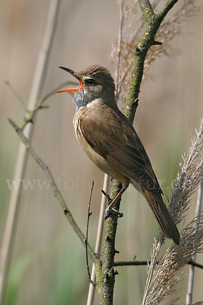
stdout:
<svg viewBox="0 0 203 305">
<path fill-rule="evenodd" d="M 166 238 L 176 245 L 180 234 L 162 199 L 163 192 L 152 169 L 150 159 L 133 125 L 119 110 L 115 101 L 115 84 L 109 71 L 94 65 L 80 72 L 59 67 L 79 81 L 75 88 L 55 93 L 70 93 L 76 112 L 73 119 L 75 135 L 86 155 L 97 167 L 122 183 L 122 189 L 105 210 L 111 212 L 131 183 L 147 200 Z"/>
</svg>

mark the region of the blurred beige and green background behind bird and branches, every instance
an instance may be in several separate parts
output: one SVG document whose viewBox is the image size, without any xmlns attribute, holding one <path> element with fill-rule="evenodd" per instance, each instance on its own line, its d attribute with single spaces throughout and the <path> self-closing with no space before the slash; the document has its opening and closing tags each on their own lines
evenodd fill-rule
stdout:
<svg viewBox="0 0 203 305">
<path fill-rule="evenodd" d="M 180 0 L 180 4 L 184 1 Z M 27 101 L 38 51 L 41 46 L 49 7 L 48 0 L 1 1 L 0 10 L 0 79 L 8 78 L 22 99 Z M 165 3 L 165 1 L 162 1 Z M 197 1 L 200 5 L 201 0 Z M 176 10 L 178 6 L 173 8 Z M 172 12 L 171 12 L 172 13 Z M 162 56 L 150 67 L 141 86 L 134 126 L 146 147 L 164 194 L 178 172 L 181 155 L 191 144 L 202 116 L 202 10 L 180 26 L 182 34 L 171 41 L 175 52 Z M 138 11 L 135 24 L 141 17 Z M 62 1 L 51 49 L 43 93 L 72 78 L 57 66 L 79 71 L 90 65 L 107 67 L 111 73 L 111 44 L 118 37 L 119 8 L 116 1 Z M 160 46 L 157 46 L 160 47 Z M 20 124 L 24 109 L 11 90 L 0 83 L 0 192 L 2 238 L 7 217 L 19 139 L 7 118 Z M 92 179 L 93 216 L 89 241 L 94 247 L 100 208 L 103 173 L 83 153 L 72 126 L 75 106 L 66 94 L 53 95 L 48 110 L 35 118 L 33 147 L 46 162 L 78 225 L 85 232 Z M 44 172 L 28 157 L 25 182 L 34 179 L 33 189 L 23 189 L 19 223 L 16 231 L 5 304 L 85 304 L 89 283 L 86 276 L 85 251 L 63 215 L 50 189 L 38 183 Z M 59 181 L 58 181 L 59 182 Z M 194 201 L 186 223 L 193 218 Z M 150 259 L 150 248 L 158 225 L 147 203 L 130 187 L 124 194 L 119 220 L 116 260 Z M 180 225 L 182 229 L 182 225 Z M 166 243 L 167 247 L 170 242 Z M 164 252 L 164 249 L 163 249 Z M 203 263 L 202 255 L 197 262 Z M 146 267 L 117 267 L 114 303 L 139 304 L 147 277 Z M 184 268 L 184 274 L 188 267 Z M 202 300 L 202 271 L 195 269 L 193 301 Z M 179 284 L 177 295 L 185 301 L 187 279 Z M 135 301 L 136 300 L 136 301 Z M 165 300 L 163 304 L 169 301 Z M 95 304 L 98 304 L 97 296 Z"/>
</svg>

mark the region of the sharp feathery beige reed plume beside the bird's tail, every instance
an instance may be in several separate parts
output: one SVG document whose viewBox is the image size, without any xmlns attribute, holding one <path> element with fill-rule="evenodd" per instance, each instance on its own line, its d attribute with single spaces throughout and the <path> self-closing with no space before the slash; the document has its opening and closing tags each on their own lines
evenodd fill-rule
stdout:
<svg viewBox="0 0 203 305">
<path fill-rule="evenodd" d="M 199 131 L 192 141 L 187 156 L 183 156 L 183 165 L 178 174 L 175 189 L 168 198 L 169 210 L 176 224 L 185 217 L 191 196 L 197 190 L 199 180 L 203 177 L 203 119 Z M 203 214 L 195 217 L 182 231 L 180 246 L 172 245 L 156 265 L 158 253 L 165 237 L 159 232 L 151 251 L 152 263 L 148 266 L 148 279 L 142 305 L 159 304 L 167 295 L 175 291 L 175 285 L 184 278 L 182 272 L 186 262 L 196 253 L 203 252 Z M 174 301 L 171 303 L 174 304 Z M 200 304 L 200 303 L 199 303 Z"/>
</svg>

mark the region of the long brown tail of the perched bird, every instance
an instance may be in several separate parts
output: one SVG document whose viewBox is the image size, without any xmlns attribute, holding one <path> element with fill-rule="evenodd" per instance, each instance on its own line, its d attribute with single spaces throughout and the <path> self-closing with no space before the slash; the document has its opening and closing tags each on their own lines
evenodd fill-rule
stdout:
<svg viewBox="0 0 203 305">
<path fill-rule="evenodd" d="M 164 202 L 159 194 L 149 192 L 148 190 L 142 190 L 143 196 L 146 198 L 149 203 L 154 216 L 156 217 L 164 235 L 172 239 L 176 245 L 180 243 L 180 234 L 179 231 L 173 222 Z"/>
</svg>

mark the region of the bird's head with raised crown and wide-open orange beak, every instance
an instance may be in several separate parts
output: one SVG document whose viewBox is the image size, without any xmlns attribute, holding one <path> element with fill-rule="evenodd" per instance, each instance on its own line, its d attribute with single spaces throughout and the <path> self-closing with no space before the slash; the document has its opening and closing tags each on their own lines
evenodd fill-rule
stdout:
<svg viewBox="0 0 203 305">
<path fill-rule="evenodd" d="M 69 92 L 77 109 L 85 107 L 96 100 L 99 103 L 105 103 L 109 106 L 115 104 L 114 80 L 106 68 L 91 66 L 80 72 L 74 72 L 73 70 L 64 67 L 59 68 L 72 74 L 79 81 L 79 86 L 76 88 L 59 90 L 55 93 Z"/>
</svg>

